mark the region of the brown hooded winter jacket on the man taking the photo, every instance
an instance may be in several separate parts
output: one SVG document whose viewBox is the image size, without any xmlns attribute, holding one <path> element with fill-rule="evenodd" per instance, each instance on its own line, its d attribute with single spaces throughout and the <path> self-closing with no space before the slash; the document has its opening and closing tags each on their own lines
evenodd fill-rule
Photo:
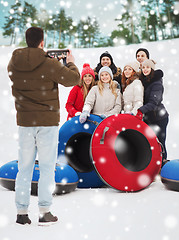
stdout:
<svg viewBox="0 0 179 240">
<path fill-rule="evenodd" d="M 13 82 L 17 125 L 58 126 L 58 83 L 65 87 L 77 85 L 78 68 L 71 62 L 62 65 L 40 48 L 27 47 L 13 52 L 8 72 Z"/>
</svg>

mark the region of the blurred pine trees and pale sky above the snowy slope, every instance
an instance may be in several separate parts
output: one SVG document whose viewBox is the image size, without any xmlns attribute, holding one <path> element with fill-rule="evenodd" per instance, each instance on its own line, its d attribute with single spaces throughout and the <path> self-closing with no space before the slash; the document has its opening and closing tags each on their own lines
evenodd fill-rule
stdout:
<svg viewBox="0 0 179 240">
<path fill-rule="evenodd" d="M 24 46 L 24 32 L 30 26 L 44 29 L 47 48 L 119 46 L 179 37 L 179 2 L 176 0 L 102 1 L 99 9 L 93 1 L 78 0 L 75 1 L 78 19 L 75 12 L 67 13 L 75 4 L 73 1 L 51 1 L 52 6 L 58 2 L 53 11 L 52 6 L 47 8 L 49 0 L 30 2 L 2 0 L 0 3 L 2 35 L 9 39 L 10 45 Z M 84 9 L 82 2 L 85 2 Z M 113 19 L 111 25 L 115 23 L 116 27 L 113 30 L 108 27 L 106 34 L 102 25 L 105 27 L 109 14 Z M 100 22 L 102 15 L 106 15 L 103 23 Z"/>
</svg>

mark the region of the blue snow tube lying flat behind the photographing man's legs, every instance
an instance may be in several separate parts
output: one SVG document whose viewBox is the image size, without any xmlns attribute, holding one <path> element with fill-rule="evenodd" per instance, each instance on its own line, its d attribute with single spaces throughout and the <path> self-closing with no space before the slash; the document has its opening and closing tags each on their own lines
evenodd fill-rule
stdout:
<svg viewBox="0 0 179 240">
<path fill-rule="evenodd" d="M 18 161 L 14 160 L 8 162 L 0 167 L 0 184 L 9 189 L 15 190 L 15 180 L 18 172 Z M 31 194 L 37 195 L 37 187 L 39 180 L 39 165 L 38 161 L 35 161 Z M 55 167 L 55 182 L 56 187 L 53 194 L 69 193 L 77 187 L 78 175 L 69 165 L 56 165 Z"/>
</svg>

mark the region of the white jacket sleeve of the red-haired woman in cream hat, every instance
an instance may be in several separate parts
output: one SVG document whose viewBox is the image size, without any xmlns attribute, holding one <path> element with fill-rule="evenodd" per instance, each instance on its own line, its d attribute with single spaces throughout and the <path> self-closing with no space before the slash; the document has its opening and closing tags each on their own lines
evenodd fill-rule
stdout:
<svg viewBox="0 0 179 240">
<path fill-rule="evenodd" d="M 143 105 L 143 98 L 144 98 L 144 87 L 140 80 L 135 80 L 133 94 L 134 94 L 134 102 L 133 102 L 133 109 L 131 112 L 134 115 L 136 115 L 137 110 Z"/>
</svg>

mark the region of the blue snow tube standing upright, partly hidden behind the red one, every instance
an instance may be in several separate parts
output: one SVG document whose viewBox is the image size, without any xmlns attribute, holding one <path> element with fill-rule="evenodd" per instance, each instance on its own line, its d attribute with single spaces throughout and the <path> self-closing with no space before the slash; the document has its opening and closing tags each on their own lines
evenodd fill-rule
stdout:
<svg viewBox="0 0 179 240">
<path fill-rule="evenodd" d="M 59 162 L 65 156 L 78 174 L 79 188 L 104 186 L 90 160 L 91 136 L 101 121 L 101 117 L 91 114 L 87 121 L 81 124 L 79 116 L 76 116 L 65 122 L 59 130 Z"/>
</svg>

